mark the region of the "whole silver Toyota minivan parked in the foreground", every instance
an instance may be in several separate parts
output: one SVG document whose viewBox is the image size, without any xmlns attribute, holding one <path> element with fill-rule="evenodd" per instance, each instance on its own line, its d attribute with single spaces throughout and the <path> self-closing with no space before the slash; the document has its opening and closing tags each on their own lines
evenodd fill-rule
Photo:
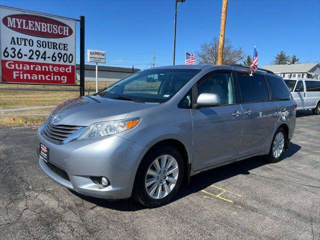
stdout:
<svg viewBox="0 0 320 240">
<path fill-rule="evenodd" d="M 160 206 L 201 171 L 256 155 L 279 161 L 295 108 L 267 70 L 154 67 L 57 106 L 37 131 L 38 161 L 78 193 Z"/>
</svg>

